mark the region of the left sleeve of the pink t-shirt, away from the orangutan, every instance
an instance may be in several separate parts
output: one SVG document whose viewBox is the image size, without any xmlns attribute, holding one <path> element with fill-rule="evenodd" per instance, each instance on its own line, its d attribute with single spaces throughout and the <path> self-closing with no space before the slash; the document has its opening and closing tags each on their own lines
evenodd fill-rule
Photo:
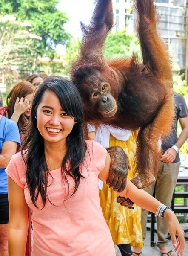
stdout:
<svg viewBox="0 0 188 256">
<path fill-rule="evenodd" d="M 26 166 L 21 156 L 21 152 L 18 152 L 11 157 L 5 172 L 18 186 L 20 186 L 20 188 L 24 189 L 26 185 Z"/>
</svg>

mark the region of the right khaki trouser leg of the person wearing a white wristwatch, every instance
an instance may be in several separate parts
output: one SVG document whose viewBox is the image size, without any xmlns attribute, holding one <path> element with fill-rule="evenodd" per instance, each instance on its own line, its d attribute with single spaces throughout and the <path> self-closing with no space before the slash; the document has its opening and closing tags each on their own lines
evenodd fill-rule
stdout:
<svg viewBox="0 0 188 256">
<path fill-rule="evenodd" d="M 177 175 L 179 172 L 180 163 L 161 163 L 163 168 L 160 169 L 156 184 L 156 198 L 162 204 L 171 207 L 173 192 L 176 186 Z M 157 217 L 157 247 L 160 248 L 161 253 L 168 253 L 168 225 L 165 218 Z M 169 256 L 173 256 L 171 252 Z"/>
</svg>

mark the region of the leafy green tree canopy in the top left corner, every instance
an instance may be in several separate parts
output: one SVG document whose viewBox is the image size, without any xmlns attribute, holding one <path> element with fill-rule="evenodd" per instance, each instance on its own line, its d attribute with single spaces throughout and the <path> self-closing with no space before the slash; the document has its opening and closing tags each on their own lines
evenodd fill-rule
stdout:
<svg viewBox="0 0 188 256">
<path fill-rule="evenodd" d="M 57 44 L 68 45 L 71 35 L 64 24 L 68 17 L 57 10 L 59 0 L 0 0 L 1 15 L 14 14 L 20 21 L 28 20 L 32 34 L 40 35 L 41 40 L 35 42 L 37 52 L 41 56 L 54 58 L 54 47 Z"/>
</svg>

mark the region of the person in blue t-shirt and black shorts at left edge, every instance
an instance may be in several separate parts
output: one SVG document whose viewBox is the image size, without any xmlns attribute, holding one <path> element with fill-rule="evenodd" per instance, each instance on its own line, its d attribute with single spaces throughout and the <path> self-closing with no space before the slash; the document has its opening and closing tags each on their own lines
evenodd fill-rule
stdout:
<svg viewBox="0 0 188 256">
<path fill-rule="evenodd" d="M 5 168 L 19 144 L 17 124 L 0 115 L 0 255 L 8 255 L 9 202 Z"/>
</svg>

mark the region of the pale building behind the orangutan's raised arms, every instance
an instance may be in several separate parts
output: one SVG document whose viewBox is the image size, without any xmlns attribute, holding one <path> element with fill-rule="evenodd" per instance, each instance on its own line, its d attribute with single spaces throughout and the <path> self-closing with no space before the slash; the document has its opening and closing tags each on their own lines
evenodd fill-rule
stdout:
<svg viewBox="0 0 188 256">
<path fill-rule="evenodd" d="M 157 0 L 156 5 L 158 31 L 188 81 L 188 0 Z M 116 24 L 112 32 L 126 29 L 128 34 L 135 33 L 133 0 L 113 0 L 113 6 Z"/>
</svg>

